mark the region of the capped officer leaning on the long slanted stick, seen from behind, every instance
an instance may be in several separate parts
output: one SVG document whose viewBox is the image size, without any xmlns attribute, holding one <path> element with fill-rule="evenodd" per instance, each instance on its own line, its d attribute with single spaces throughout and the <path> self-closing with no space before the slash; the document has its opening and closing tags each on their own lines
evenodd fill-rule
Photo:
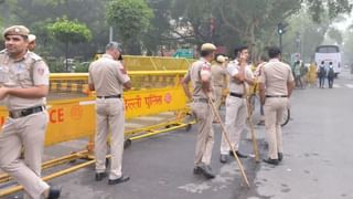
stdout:
<svg viewBox="0 0 353 199">
<path fill-rule="evenodd" d="M 207 179 L 215 175 L 211 168 L 211 157 L 214 144 L 212 128 L 213 112 L 208 98 L 213 95 L 213 82 L 210 62 L 214 60 L 216 46 L 205 43 L 201 46 L 201 59 L 194 62 L 182 81 L 185 95 L 193 100 L 191 109 L 196 117 L 199 132 L 194 157 L 194 174 L 203 175 Z M 189 90 L 189 83 L 193 85 L 193 94 Z"/>
</svg>

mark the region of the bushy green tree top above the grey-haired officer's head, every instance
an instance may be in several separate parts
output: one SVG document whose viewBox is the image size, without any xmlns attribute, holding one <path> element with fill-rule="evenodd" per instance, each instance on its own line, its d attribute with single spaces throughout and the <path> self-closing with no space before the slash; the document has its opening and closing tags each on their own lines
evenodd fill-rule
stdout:
<svg viewBox="0 0 353 199">
<path fill-rule="evenodd" d="M 149 29 L 152 18 L 145 0 L 114 0 L 107 7 L 108 23 L 117 28 L 122 44 L 132 54 L 140 52 L 138 39 Z"/>
</svg>

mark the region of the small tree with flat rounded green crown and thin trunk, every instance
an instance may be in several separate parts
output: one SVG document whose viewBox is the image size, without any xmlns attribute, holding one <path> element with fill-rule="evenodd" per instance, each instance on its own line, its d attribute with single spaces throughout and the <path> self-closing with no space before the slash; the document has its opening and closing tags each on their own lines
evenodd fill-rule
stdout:
<svg viewBox="0 0 353 199">
<path fill-rule="evenodd" d="M 49 24 L 47 29 L 53 38 L 65 43 L 65 64 L 66 71 L 68 71 L 68 44 L 90 41 L 90 30 L 86 24 L 79 23 L 77 20 L 69 21 L 66 17 L 57 19 L 56 22 Z"/>
</svg>

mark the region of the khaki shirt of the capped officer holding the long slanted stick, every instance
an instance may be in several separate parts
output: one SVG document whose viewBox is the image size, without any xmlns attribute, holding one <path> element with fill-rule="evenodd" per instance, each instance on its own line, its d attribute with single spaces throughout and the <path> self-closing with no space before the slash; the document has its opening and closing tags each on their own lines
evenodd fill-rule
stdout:
<svg viewBox="0 0 353 199">
<path fill-rule="evenodd" d="M 193 98 L 207 98 L 206 94 L 202 90 L 201 71 L 208 71 L 211 73 L 211 64 L 203 57 L 194 62 L 189 69 L 185 78 L 191 80 L 193 85 Z M 213 91 L 213 80 L 211 75 L 211 90 Z"/>
</svg>

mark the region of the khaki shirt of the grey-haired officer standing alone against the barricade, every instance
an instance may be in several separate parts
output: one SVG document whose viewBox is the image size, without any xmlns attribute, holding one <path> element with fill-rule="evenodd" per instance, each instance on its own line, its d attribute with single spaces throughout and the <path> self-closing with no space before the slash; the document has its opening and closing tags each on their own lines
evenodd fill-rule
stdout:
<svg viewBox="0 0 353 199">
<path fill-rule="evenodd" d="M 97 96 L 122 94 L 124 84 L 130 81 L 121 63 L 109 54 L 93 62 L 88 72 L 88 83 L 94 84 Z"/>
</svg>

